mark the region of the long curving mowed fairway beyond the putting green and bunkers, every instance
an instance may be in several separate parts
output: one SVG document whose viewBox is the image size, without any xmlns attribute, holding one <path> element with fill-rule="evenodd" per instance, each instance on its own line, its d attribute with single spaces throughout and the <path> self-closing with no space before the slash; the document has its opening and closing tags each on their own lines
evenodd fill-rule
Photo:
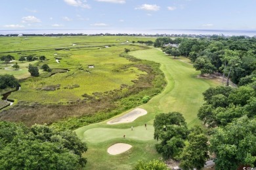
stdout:
<svg viewBox="0 0 256 170">
<path fill-rule="evenodd" d="M 202 93 L 215 83 L 198 79 L 200 72 L 195 71 L 191 64 L 166 56 L 157 49 L 133 51 L 130 54 L 140 59 L 159 62 L 167 79 L 163 93 L 140 106 L 151 113 L 148 121 L 159 113 L 181 112 L 188 126 L 199 123 L 196 114 L 203 103 Z"/>
</svg>

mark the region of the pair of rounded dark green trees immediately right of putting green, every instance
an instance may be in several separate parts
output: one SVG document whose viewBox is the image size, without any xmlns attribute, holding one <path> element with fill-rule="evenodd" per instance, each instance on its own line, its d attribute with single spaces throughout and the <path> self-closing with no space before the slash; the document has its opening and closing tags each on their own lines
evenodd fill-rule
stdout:
<svg viewBox="0 0 256 170">
<path fill-rule="evenodd" d="M 154 138 L 160 140 L 156 150 L 165 159 L 181 161 L 183 169 L 201 169 L 208 156 L 207 137 L 199 126 L 190 131 L 179 112 L 158 114 L 154 120 Z"/>
</svg>

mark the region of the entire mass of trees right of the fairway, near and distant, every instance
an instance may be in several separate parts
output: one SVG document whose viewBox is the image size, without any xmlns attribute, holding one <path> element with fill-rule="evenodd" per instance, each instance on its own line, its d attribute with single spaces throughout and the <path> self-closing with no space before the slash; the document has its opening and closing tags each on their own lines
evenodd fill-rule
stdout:
<svg viewBox="0 0 256 170">
<path fill-rule="evenodd" d="M 207 127 L 188 130 L 177 112 L 159 114 L 154 121 L 156 150 L 165 159 L 180 161 L 183 169 L 202 169 L 211 153 L 215 169 L 256 167 L 256 39 L 218 37 L 187 39 L 160 37 L 154 43 L 166 54 L 179 51 L 201 74 L 226 75 L 238 88 L 211 87 L 198 117 Z M 175 47 L 177 46 L 177 47 Z"/>
</svg>

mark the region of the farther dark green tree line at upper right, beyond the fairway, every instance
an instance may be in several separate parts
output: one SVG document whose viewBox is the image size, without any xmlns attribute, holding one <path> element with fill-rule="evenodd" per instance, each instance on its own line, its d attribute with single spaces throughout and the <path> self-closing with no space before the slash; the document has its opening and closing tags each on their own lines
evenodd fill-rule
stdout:
<svg viewBox="0 0 256 170">
<path fill-rule="evenodd" d="M 190 58 L 194 68 L 200 70 L 202 75 L 221 73 L 238 85 L 244 85 L 247 81 L 251 81 L 249 79 L 256 77 L 256 38 L 254 37 L 212 36 L 201 39 L 159 37 L 154 42 L 154 47 L 161 47 L 165 53 L 173 56 L 182 55 Z"/>
</svg>

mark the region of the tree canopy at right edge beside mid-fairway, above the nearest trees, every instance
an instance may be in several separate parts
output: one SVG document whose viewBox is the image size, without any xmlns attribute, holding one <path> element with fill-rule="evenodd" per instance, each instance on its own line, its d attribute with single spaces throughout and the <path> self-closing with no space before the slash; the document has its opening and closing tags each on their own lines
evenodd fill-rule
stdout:
<svg viewBox="0 0 256 170">
<path fill-rule="evenodd" d="M 238 89 L 211 87 L 203 93 L 203 96 L 205 103 L 200 107 L 198 117 L 209 127 L 227 125 L 244 115 L 255 116 L 253 99 L 256 97 L 256 92 L 249 86 Z"/>
</svg>

